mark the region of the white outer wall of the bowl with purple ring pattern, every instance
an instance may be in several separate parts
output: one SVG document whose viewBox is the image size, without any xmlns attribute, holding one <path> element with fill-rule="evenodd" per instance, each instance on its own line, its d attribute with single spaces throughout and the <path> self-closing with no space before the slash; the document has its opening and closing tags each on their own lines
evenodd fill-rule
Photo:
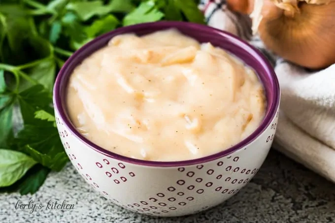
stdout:
<svg viewBox="0 0 335 223">
<path fill-rule="evenodd" d="M 267 129 L 232 154 L 191 166 L 142 166 L 109 158 L 70 133 L 55 109 L 67 156 L 96 191 L 119 206 L 141 214 L 172 217 L 194 214 L 232 197 L 266 159 L 278 111 Z"/>
</svg>

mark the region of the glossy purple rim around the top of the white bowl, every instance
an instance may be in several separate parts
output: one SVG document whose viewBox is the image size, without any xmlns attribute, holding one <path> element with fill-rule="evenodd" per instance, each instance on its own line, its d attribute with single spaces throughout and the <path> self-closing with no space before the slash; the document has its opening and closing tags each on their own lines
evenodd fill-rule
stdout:
<svg viewBox="0 0 335 223">
<path fill-rule="evenodd" d="M 101 148 L 100 146 L 96 145 L 95 143 L 91 142 L 87 138 L 85 138 L 83 135 L 81 135 L 75 127 L 71 124 L 69 119 L 67 118 L 67 115 L 65 113 L 65 109 L 62 105 L 62 99 L 61 99 L 61 94 L 60 94 L 60 86 L 61 86 L 61 81 L 64 77 L 67 77 L 67 73 L 65 70 L 67 69 L 67 66 L 70 64 L 70 62 L 73 60 L 73 58 L 78 57 L 80 54 L 85 54 L 86 49 L 93 43 L 99 42 L 100 40 L 104 39 L 106 36 L 113 35 L 115 32 L 119 33 L 129 33 L 132 32 L 133 30 L 137 29 L 146 29 L 148 26 L 153 26 L 156 28 L 160 27 L 178 27 L 179 29 L 181 27 L 188 27 L 189 29 L 193 29 L 197 32 L 211 32 L 216 35 L 221 35 L 223 37 L 228 37 L 230 39 L 234 39 L 234 41 L 237 41 L 239 46 L 248 47 L 249 50 L 253 51 L 257 55 L 258 58 L 257 61 L 258 63 L 262 64 L 263 68 L 266 70 L 266 72 L 269 74 L 270 82 L 274 86 L 272 88 L 273 90 L 273 100 L 272 104 L 268 105 L 270 106 L 270 112 L 264 117 L 262 124 L 255 130 L 253 133 L 251 133 L 248 137 L 246 137 L 244 140 L 239 142 L 238 144 L 235 144 L 234 146 L 217 152 L 215 154 L 206 156 L 206 157 L 201 157 L 198 159 L 189 159 L 189 160 L 180 160 L 180 161 L 149 161 L 149 160 L 142 160 L 142 159 L 134 159 L 126 156 L 122 156 L 113 152 L 110 152 L 106 149 Z M 242 48 L 242 47 L 241 47 Z M 244 49 L 245 50 L 245 49 Z M 132 163 L 135 165 L 141 165 L 141 166 L 154 166 L 154 167 L 180 167 L 180 166 L 189 166 L 189 165 L 197 165 L 201 163 L 206 163 L 209 161 L 213 161 L 216 159 L 220 159 L 223 157 L 226 157 L 235 151 L 238 151 L 240 149 L 245 148 L 247 145 L 252 143 L 256 138 L 258 138 L 266 129 L 267 127 L 271 124 L 272 120 L 276 116 L 276 112 L 279 108 L 279 101 L 280 101 L 280 89 L 279 89 L 279 82 L 277 79 L 277 76 L 274 72 L 273 67 L 270 65 L 268 62 L 268 59 L 262 54 L 261 51 L 259 51 L 257 48 L 253 47 L 243 39 L 239 38 L 238 36 L 235 36 L 232 33 L 222 31 L 219 29 L 215 29 L 206 25 L 201 25 L 201 24 L 196 24 L 196 23 L 190 23 L 190 22 L 180 22 L 180 21 L 159 21 L 159 22 L 150 22 L 150 23 L 142 23 L 142 24 L 136 24 L 132 26 L 127 26 L 127 27 L 122 27 L 118 28 L 116 30 L 113 30 L 111 32 L 107 32 L 103 35 L 100 35 L 99 37 L 93 39 L 92 41 L 86 43 L 84 46 L 82 46 L 80 49 L 75 51 L 72 56 L 70 56 L 61 70 L 59 71 L 55 84 L 54 84 L 54 89 L 53 89 L 53 100 L 54 100 L 54 106 L 55 109 L 58 110 L 60 117 L 63 119 L 64 125 L 71 131 L 71 133 L 78 138 L 81 142 L 86 144 L 88 147 L 91 149 L 99 152 L 102 155 L 105 155 L 109 158 L 112 159 L 117 159 L 119 161 L 124 161 L 128 163 Z"/>
</svg>

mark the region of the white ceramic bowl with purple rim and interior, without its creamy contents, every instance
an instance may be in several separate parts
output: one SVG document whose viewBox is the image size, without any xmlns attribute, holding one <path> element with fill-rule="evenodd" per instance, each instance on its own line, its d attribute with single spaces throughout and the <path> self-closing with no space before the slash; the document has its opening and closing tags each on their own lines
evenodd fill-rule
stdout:
<svg viewBox="0 0 335 223">
<path fill-rule="evenodd" d="M 80 135 L 69 121 L 65 106 L 68 77 L 77 64 L 105 46 L 115 35 L 129 32 L 141 35 L 172 27 L 200 42 L 211 42 L 228 50 L 258 73 L 265 87 L 268 105 L 264 121 L 257 130 L 237 145 L 217 154 L 170 162 L 124 157 Z M 134 25 L 94 39 L 64 64 L 53 94 L 57 127 L 65 151 L 86 182 L 111 202 L 126 209 L 169 217 L 189 215 L 218 205 L 252 179 L 271 147 L 280 97 L 276 75 L 258 50 L 230 33 L 185 22 Z"/>
</svg>

